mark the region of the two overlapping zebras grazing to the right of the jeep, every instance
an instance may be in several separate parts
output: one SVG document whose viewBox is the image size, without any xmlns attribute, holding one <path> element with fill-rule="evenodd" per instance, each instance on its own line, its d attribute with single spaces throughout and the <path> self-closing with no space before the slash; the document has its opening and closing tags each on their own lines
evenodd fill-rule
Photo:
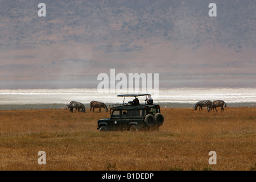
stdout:
<svg viewBox="0 0 256 182">
<path fill-rule="evenodd" d="M 205 100 L 205 101 L 197 102 L 195 105 L 195 110 L 197 110 L 197 107 L 199 107 L 199 110 L 203 109 L 203 107 L 207 107 L 208 112 L 212 109 L 213 109 L 213 112 L 214 112 L 214 109 L 217 112 L 216 107 L 221 107 L 221 112 L 222 112 L 222 110 L 224 111 L 223 106 L 226 107 L 226 103 L 222 100 L 217 100 L 217 101 Z"/>
</svg>

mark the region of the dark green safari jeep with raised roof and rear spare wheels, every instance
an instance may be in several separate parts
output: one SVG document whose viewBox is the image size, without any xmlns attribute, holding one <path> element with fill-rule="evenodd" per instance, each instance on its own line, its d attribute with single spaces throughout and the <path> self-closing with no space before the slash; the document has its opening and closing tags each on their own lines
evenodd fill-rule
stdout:
<svg viewBox="0 0 256 182">
<path fill-rule="evenodd" d="M 118 97 L 149 96 L 150 94 L 123 94 Z M 146 100 L 145 100 L 146 101 Z M 97 121 L 98 130 L 115 131 L 129 130 L 139 131 L 142 129 L 158 129 L 163 125 L 164 117 L 160 113 L 160 106 L 155 104 L 138 104 L 134 102 L 118 105 L 110 105 L 110 118 Z"/>
</svg>

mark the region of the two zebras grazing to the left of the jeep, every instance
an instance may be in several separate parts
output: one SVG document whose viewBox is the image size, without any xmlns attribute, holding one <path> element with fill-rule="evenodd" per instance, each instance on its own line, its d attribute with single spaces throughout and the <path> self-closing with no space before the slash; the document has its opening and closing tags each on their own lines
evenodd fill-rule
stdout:
<svg viewBox="0 0 256 182">
<path fill-rule="evenodd" d="M 108 107 L 103 102 L 98 102 L 98 101 L 90 102 L 90 111 L 92 111 L 93 109 L 93 113 L 94 113 L 94 108 L 99 108 L 98 112 L 100 113 L 102 107 L 105 109 L 105 111 L 108 111 Z M 73 109 L 76 109 L 75 112 L 78 110 L 78 112 L 81 111 L 85 113 L 85 106 L 81 102 L 71 101 L 69 102 L 69 105 L 67 105 L 67 108 L 72 113 L 73 113 Z"/>
</svg>

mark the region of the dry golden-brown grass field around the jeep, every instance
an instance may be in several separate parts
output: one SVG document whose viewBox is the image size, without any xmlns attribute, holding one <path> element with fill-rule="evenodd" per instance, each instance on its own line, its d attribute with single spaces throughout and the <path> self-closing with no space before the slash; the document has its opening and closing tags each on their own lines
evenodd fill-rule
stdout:
<svg viewBox="0 0 256 182">
<path fill-rule="evenodd" d="M 0 169 L 255 170 L 256 107 L 163 108 L 159 131 L 99 132 L 97 119 L 109 114 L 0 110 Z M 39 151 L 46 165 L 38 164 Z"/>
</svg>

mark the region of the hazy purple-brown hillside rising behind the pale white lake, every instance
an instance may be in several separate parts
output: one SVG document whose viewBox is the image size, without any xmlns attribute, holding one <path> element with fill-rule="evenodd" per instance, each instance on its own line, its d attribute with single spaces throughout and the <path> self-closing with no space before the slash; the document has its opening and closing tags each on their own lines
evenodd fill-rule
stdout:
<svg viewBox="0 0 256 182">
<path fill-rule="evenodd" d="M 1 1 L 0 88 L 97 88 L 97 76 L 159 73 L 159 86 L 255 85 L 256 3 Z"/>
</svg>

